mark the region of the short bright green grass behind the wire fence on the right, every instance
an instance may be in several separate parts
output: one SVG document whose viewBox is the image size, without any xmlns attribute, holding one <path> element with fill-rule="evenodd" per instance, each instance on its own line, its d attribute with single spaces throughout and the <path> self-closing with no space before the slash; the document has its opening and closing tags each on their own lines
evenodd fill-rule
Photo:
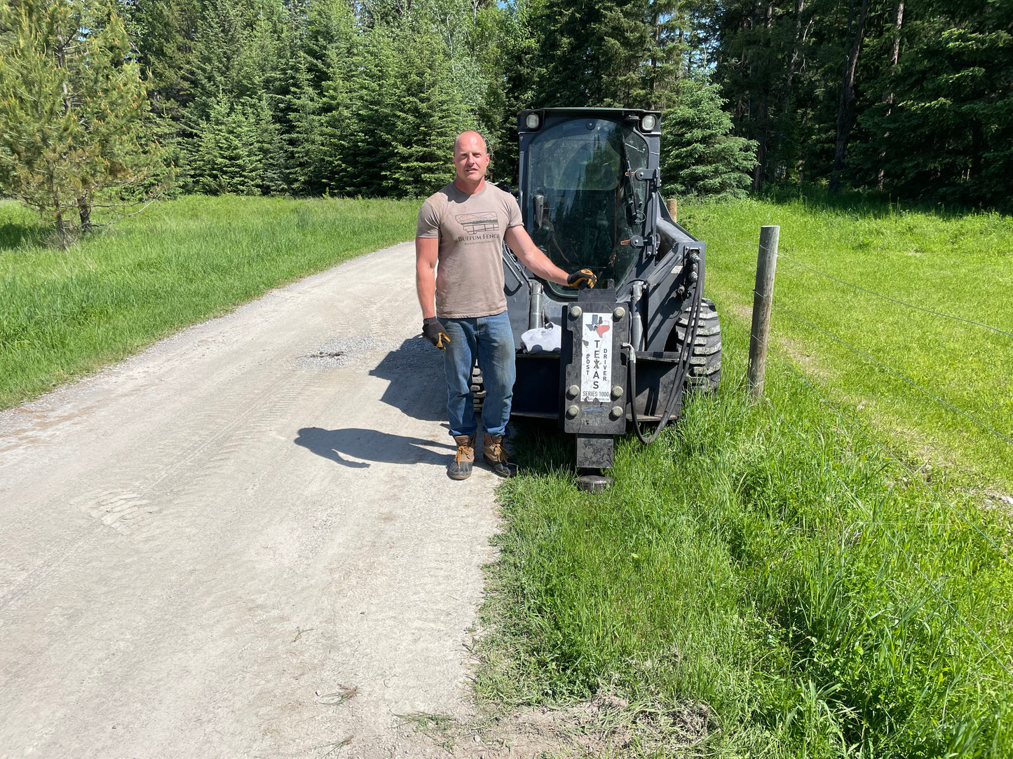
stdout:
<svg viewBox="0 0 1013 759">
<path fill-rule="evenodd" d="M 794 262 L 1010 333 L 1013 218 L 800 198 L 685 204 L 680 222 L 707 241 L 707 291 L 722 317 L 747 325 L 760 227 L 779 225 L 774 302 L 784 308 L 772 317 L 774 349 L 835 403 L 857 411 L 883 442 L 961 470 L 968 484 L 1013 492 L 1013 443 L 981 426 L 1013 438 L 1013 337 L 884 301 Z"/>
</svg>

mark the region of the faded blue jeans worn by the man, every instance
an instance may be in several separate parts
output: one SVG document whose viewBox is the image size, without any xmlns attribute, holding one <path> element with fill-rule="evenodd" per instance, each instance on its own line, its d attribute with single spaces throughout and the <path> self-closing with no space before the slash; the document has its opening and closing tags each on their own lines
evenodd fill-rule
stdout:
<svg viewBox="0 0 1013 759">
<path fill-rule="evenodd" d="M 450 433 L 471 436 L 478 429 L 471 394 L 471 366 L 477 357 L 485 384 L 482 426 L 490 435 L 504 434 L 516 376 L 510 315 L 504 311 L 489 317 L 440 321 L 450 338 L 444 351 Z"/>
</svg>

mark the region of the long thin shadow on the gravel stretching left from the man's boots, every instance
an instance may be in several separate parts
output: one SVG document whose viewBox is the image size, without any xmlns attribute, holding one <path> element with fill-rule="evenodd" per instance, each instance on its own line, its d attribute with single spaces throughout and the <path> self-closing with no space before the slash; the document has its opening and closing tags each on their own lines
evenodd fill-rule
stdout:
<svg viewBox="0 0 1013 759">
<path fill-rule="evenodd" d="M 299 430 L 299 437 L 296 438 L 295 443 L 312 450 L 318 456 L 329 458 L 352 469 L 367 469 L 370 465 L 366 461 L 349 460 L 344 456 L 385 463 L 443 465 L 447 461 L 447 453 L 456 450 L 448 443 L 434 442 L 420 437 L 392 435 L 389 432 L 357 427 L 348 429 L 303 427 Z M 441 450 L 438 452 L 430 450 L 430 448 Z"/>
</svg>

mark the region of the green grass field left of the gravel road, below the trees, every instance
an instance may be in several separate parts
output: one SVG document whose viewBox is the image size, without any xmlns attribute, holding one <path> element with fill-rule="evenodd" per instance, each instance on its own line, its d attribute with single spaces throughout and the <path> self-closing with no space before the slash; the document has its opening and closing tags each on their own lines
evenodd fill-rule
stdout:
<svg viewBox="0 0 1013 759">
<path fill-rule="evenodd" d="M 186 196 L 64 253 L 0 203 L 0 408 L 411 238 L 417 202 Z"/>
</svg>

